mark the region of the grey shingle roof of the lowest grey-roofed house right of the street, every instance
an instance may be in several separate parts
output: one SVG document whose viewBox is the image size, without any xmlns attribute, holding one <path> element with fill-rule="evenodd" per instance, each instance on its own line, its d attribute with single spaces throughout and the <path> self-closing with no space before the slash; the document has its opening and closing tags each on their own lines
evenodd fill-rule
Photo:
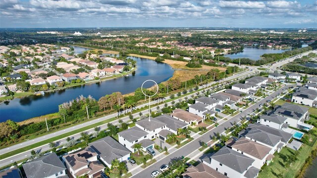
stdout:
<svg viewBox="0 0 317 178">
<path fill-rule="evenodd" d="M 213 154 L 211 159 L 214 159 L 239 173 L 244 173 L 255 161 L 254 159 L 225 146 Z"/>
</svg>

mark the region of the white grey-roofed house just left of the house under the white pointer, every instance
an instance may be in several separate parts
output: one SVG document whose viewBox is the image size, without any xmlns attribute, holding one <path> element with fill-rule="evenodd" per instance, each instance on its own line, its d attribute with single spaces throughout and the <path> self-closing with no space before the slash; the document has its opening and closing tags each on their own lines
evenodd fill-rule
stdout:
<svg viewBox="0 0 317 178">
<path fill-rule="evenodd" d="M 133 148 L 133 145 L 143 139 L 148 139 L 148 134 L 148 132 L 141 129 L 140 127 L 134 126 L 118 133 L 119 143 L 121 143 L 131 152 L 136 152 L 137 150 Z"/>
</svg>

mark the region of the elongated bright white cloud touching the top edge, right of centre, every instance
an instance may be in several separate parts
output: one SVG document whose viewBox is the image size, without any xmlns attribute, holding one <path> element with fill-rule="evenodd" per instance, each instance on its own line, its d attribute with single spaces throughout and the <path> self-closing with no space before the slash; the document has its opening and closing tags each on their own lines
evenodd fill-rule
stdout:
<svg viewBox="0 0 317 178">
<path fill-rule="evenodd" d="M 264 8 L 264 2 L 258 1 L 219 1 L 219 6 L 223 8 Z"/>
</svg>

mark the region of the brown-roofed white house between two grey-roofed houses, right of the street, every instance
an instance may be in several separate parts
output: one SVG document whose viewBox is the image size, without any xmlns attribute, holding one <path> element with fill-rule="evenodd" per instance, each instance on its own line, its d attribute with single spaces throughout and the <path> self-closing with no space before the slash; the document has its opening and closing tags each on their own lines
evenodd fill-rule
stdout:
<svg viewBox="0 0 317 178">
<path fill-rule="evenodd" d="M 245 137 L 240 137 L 238 140 L 232 140 L 231 142 L 227 143 L 226 146 L 236 152 L 254 159 L 255 162 L 253 163 L 253 166 L 257 169 L 261 169 L 265 163 L 268 165 L 274 157 L 274 152 L 271 148 L 255 141 L 246 139 Z"/>
</svg>

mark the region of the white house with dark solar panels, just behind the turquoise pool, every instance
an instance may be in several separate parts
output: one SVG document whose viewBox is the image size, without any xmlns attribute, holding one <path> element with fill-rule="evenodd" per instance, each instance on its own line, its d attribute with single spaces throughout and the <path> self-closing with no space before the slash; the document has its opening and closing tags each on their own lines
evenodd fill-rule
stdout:
<svg viewBox="0 0 317 178">
<path fill-rule="evenodd" d="M 294 105 L 292 103 L 284 103 L 282 106 L 277 106 L 275 115 L 283 116 L 286 123 L 295 128 L 311 129 L 312 125 L 304 123 L 309 118 L 308 108 Z"/>
</svg>

